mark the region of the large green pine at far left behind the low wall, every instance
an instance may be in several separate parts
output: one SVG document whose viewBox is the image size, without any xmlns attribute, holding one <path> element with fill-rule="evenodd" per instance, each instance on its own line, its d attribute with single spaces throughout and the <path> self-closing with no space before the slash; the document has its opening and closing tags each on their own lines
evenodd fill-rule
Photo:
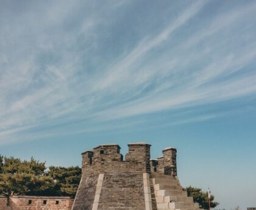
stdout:
<svg viewBox="0 0 256 210">
<path fill-rule="evenodd" d="M 12 195 L 41 195 L 51 191 L 55 183 L 44 174 L 45 163 L 34 158 L 21 161 L 20 158 L 0 156 L 0 194 L 8 198 Z"/>
</svg>

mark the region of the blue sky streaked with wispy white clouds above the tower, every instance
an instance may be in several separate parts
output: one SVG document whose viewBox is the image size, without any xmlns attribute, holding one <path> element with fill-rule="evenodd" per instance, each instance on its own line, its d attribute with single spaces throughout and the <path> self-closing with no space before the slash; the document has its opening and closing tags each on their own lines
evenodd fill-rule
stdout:
<svg viewBox="0 0 256 210">
<path fill-rule="evenodd" d="M 256 207 L 255 1 L 0 0 L 0 154 L 177 148 L 182 186 Z"/>
</svg>

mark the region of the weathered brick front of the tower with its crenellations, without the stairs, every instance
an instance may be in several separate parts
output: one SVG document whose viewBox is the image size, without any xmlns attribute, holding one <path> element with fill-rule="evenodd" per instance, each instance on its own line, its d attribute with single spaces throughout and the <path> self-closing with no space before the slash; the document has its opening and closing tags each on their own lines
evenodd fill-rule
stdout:
<svg viewBox="0 0 256 210">
<path fill-rule="evenodd" d="M 98 209 L 145 209 L 143 173 L 150 172 L 150 145 L 129 144 L 126 161 L 116 144 L 82 153 L 82 181 L 73 210 L 93 209 L 100 173 L 104 174 Z M 91 158 L 91 159 L 90 159 Z M 88 184 L 90 183 L 90 184 Z"/>
</svg>

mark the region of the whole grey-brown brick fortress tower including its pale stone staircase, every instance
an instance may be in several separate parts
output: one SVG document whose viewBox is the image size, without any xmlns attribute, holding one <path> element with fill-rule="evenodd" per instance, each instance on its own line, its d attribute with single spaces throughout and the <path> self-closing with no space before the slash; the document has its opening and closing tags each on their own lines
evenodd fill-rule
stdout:
<svg viewBox="0 0 256 210">
<path fill-rule="evenodd" d="M 82 153 L 82 179 L 72 210 L 199 209 L 177 177 L 176 149 L 150 159 L 151 145 L 129 144 L 125 156 L 117 144 Z"/>
</svg>

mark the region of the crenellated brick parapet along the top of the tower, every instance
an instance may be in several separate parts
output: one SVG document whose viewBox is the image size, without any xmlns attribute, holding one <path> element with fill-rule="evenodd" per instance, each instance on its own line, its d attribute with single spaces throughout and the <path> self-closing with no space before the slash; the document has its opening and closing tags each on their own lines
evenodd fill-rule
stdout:
<svg viewBox="0 0 256 210">
<path fill-rule="evenodd" d="M 136 170 L 164 175 L 177 175 L 177 150 L 168 147 L 163 150 L 163 156 L 151 159 L 151 145 L 145 142 L 128 144 L 129 152 L 124 156 L 120 153 L 118 144 L 102 144 L 82 153 L 82 169 L 84 172 L 102 173 L 110 170 Z M 94 170 L 94 171 L 93 171 Z"/>
</svg>

